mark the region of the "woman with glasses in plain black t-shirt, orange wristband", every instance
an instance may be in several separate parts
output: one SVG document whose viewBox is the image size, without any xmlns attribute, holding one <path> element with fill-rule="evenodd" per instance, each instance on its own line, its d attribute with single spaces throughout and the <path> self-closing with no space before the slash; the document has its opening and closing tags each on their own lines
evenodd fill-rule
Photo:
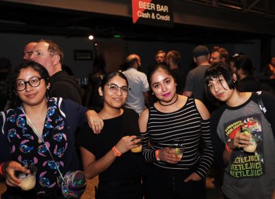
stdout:
<svg viewBox="0 0 275 199">
<path fill-rule="evenodd" d="M 96 199 L 142 199 L 142 154 L 133 154 L 140 139 L 138 115 L 124 108 L 131 92 L 126 76 L 121 72 L 104 75 L 98 93 L 103 98 L 103 108 L 98 113 L 104 121 L 100 134 L 93 134 L 84 126 L 76 140 L 80 146 L 85 176 L 99 175 Z"/>
</svg>

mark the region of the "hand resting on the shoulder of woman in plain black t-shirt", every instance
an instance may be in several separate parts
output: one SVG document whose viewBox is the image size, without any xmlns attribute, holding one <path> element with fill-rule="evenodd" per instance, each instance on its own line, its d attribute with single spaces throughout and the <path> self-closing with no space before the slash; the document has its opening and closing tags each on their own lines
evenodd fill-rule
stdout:
<svg viewBox="0 0 275 199">
<path fill-rule="evenodd" d="M 98 134 L 104 126 L 104 122 L 101 119 L 100 115 L 94 110 L 88 110 L 86 112 L 87 121 L 89 127 L 93 130 L 94 133 Z"/>
</svg>

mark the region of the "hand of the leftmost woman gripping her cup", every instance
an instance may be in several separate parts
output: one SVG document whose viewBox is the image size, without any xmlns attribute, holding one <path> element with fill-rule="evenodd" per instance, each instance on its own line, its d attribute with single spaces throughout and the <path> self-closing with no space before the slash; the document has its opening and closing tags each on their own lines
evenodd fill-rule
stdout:
<svg viewBox="0 0 275 199">
<path fill-rule="evenodd" d="M 6 162 L 3 165 L 3 171 L 5 174 L 5 183 L 10 187 L 20 187 L 20 180 L 15 176 L 15 171 L 24 172 L 30 174 L 30 171 L 24 168 L 20 163 L 16 161 Z"/>
</svg>

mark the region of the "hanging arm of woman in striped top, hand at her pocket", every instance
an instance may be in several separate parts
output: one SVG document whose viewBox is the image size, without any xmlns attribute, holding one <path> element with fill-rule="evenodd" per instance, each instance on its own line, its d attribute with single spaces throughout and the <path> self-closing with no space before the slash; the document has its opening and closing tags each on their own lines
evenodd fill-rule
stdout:
<svg viewBox="0 0 275 199">
<path fill-rule="evenodd" d="M 201 178 L 205 178 L 208 169 L 214 161 L 214 152 L 210 136 L 210 114 L 208 113 L 206 106 L 204 106 L 201 101 L 195 100 L 195 104 L 202 118 L 201 139 L 203 141 L 203 154 L 201 155 L 201 161 L 197 171 L 188 176 L 184 182 L 188 182 L 188 180 L 201 180 Z"/>
</svg>

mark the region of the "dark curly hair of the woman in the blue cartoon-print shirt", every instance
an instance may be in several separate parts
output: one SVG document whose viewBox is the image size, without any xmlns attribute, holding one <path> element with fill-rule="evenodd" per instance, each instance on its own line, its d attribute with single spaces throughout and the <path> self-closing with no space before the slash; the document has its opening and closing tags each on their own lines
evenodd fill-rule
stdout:
<svg viewBox="0 0 275 199">
<path fill-rule="evenodd" d="M 41 75 L 41 78 L 45 80 L 46 85 L 50 82 L 50 75 L 47 72 L 47 69 L 45 69 L 45 67 L 43 67 L 41 64 L 33 61 L 22 62 L 21 65 L 19 65 L 14 69 L 14 71 L 12 71 L 9 78 L 9 83 L 10 83 L 9 90 L 10 90 L 10 93 L 12 93 L 12 99 L 11 99 L 12 104 L 14 104 L 12 108 L 21 106 L 22 104 L 22 100 L 17 96 L 17 89 L 15 87 L 15 82 L 17 81 L 17 78 L 21 72 L 21 69 L 27 69 L 27 68 L 31 68 L 34 71 L 38 72 L 39 75 Z"/>
</svg>

